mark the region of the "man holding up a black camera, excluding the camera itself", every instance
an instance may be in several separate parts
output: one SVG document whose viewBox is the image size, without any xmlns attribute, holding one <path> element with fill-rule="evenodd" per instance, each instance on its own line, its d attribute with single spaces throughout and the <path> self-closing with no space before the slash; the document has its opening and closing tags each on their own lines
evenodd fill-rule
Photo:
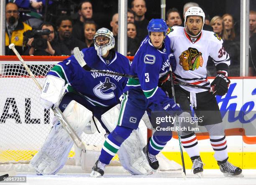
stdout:
<svg viewBox="0 0 256 185">
<path fill-rule="evenodd" d="M 25 52 L 25 55 L 34 55 L 34 56 L 59 56 L 61 55 L 60 44 L 55 39 L 55 29 L 54 25 L 51 23 L 43 23 L 41 25 L 41 30 L 48 29 L 50 30 L 49 35 L 42 35 L 41 38 L 47 41 L 45 47 L 35 49 L 33 47 L 34 38 L 29 38 L 27 45 L 30 46 Z"/>
</svg>

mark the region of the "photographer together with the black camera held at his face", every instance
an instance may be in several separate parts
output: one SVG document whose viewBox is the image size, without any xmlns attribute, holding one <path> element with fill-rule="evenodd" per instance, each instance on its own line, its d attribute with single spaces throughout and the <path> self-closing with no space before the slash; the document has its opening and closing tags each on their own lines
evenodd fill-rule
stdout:
<svg viewBox="0 0 256 185">
<path fill-rule="evenodd" d="M 54 39 L 54 26 L 51 23 L 43 23 L 41 30 L 34 30 L 28 34 L 28 50 L 25 55 L 34 56 L 58 56 L 61 55 L 60 44 Z M 27 35 L 27 34 L 26 34 Z M 35 37 L 31 37 L 35 35 Z M 39 38 L 37 38 L 40 35 Z"/>
</svg>

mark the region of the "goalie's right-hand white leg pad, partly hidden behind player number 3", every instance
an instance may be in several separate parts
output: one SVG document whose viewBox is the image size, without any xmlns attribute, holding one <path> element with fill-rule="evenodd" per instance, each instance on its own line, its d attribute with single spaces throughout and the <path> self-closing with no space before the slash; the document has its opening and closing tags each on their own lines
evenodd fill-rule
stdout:
<svg viewBox="0 0 256 185">
<path fill-rule="evenodd" d="M 101 116 L 102 122 L 110 132 L 115 129 L 118 122 L 119 109 L 120 105 L 118 104 Z M 121 165 L 133 175 L 149 175 L 153 172 L 147 162 L 146 156 L 142 152 L 145 145 L 140 129 L 138 128 L 133 130 L 118 150 Z"/>
</svg>

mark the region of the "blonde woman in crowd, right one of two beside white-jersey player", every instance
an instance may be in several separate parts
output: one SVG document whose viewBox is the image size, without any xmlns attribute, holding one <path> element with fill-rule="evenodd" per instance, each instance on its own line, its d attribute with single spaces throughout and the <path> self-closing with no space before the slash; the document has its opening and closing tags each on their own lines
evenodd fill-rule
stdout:
<svg viewBox="0 0 256 185">
<path fill-rule="evenodd" d="M 234 19 L 233 16 L 226 13 L 222 16 L 222 19 L 224 20 L 225 30 L 228 33 L 228 38 L 225 38 L 225 40 L 234 41 L 236 38 L 235 34 L 235 27 L 234 27 Z"/>
</svg>

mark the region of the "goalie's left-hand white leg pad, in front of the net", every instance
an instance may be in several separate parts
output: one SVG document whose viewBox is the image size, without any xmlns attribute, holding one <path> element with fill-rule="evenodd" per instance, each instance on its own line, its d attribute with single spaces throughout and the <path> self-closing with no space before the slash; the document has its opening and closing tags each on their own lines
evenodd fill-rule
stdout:
<svg viewBox="0 0 256 185">
<path fill-rule="evenodd" d="M 74 100 L 69 103 L 63 115 L 78 136 L 82 134 L 84 127 L 92 119 L 92 112 Z M 30 164 L 43 175 L 54 175 L 66 163 L 73 144 L 67 131 L 57 121 Z"/>
</svg>

